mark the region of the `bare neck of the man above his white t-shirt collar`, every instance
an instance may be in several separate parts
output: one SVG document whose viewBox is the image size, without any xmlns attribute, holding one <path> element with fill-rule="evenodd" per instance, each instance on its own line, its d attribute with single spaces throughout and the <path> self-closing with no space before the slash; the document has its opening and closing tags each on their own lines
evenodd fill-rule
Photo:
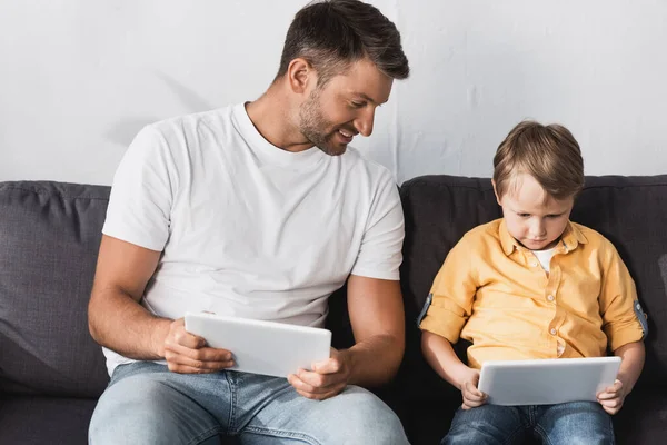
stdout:
<svg viewBox="0 0 667 445">
<path fill-rule="evenodd" d="M 312 147 L 292 122 L 289 101 L 276 86 L 259 99 L 246 103 L 246 112 L 259 134 L 271 145 L 286 151 L 303 151 Z"/>
</svg>

